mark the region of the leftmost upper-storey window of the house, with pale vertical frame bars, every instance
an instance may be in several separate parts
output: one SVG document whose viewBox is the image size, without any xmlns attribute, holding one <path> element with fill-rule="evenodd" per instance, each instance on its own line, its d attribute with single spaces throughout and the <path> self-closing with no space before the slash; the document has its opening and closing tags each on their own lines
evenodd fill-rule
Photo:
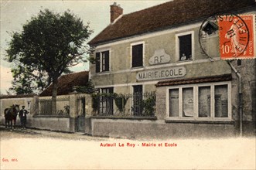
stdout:
<svg viewBox="0 0 256 170">
<path fill-rule="evenodd" d="M 109 51 L 96 53 L 96 73 L 109 71 Z"/>
</svg>

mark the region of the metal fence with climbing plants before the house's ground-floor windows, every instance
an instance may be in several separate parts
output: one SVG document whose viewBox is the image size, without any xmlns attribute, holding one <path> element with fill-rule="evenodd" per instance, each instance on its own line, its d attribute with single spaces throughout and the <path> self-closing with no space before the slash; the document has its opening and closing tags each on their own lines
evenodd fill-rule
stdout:
<svg viewBox="0 0 256 170">
<path fill-rule="evenodd" d="M 94 116 L 154 117 L 155 92 L 98 93 L 93 96 Z"/>
</svg>

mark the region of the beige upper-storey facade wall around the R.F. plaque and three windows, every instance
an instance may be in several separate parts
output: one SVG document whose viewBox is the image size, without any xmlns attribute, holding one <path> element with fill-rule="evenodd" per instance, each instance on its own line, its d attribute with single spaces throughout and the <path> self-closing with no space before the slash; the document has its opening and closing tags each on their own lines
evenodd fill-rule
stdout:
<svg viewBox="0 0 256 170">
<path fill-rule="evenodd" d="M 144 90 L 154 91 L 155 83 L 159 80 L 137 80 L 138 72 L 144 70 L 155 70 L 163 68 L 172 68 L 175 66 L 184 66 L 186 75 L 184 78 L 198 76 L 215 76 L 231 73 L 230 66 L 220 60 L 216 53 L 218 51 L 218 37 L 213 36 L 210 42 L 207 42 L 207 49 L 213 58 L 213 62 L 201 52 L 199 44 L 199 29 L 201 22 L 196 22 L 188 26 L 181 26 L 177 29 L 169 29 L 162 32 L 156 32 L 145 36 L 136 36 L 135 38 L 121 40 L 106 45 L 97 46 L 97 51 L 110 50 L 110 71 L 106 73 L 95 73 L 95 65 L 90 64 L 90 79 L 95 87 L 114 87 L 114 93 L 132 93 L 131 86 L 143 84 Z M 192 32 L 193 34 L 193 60 L 180 62 L 177 56 L 176 36 L 183 32 Z M 131 68 L 131 44 L 135 42 L 144 43 L 144 66 L 140 68 Z M 215 49 L 212 42 L 217 44 Z M 170 62 L 158 65 L 150 65 L 149 59 L 154 56 L 155 50 L 164 49 L 170 56 Z M 212 50 L 214 49 L 214 50 Z"/>
</svg>

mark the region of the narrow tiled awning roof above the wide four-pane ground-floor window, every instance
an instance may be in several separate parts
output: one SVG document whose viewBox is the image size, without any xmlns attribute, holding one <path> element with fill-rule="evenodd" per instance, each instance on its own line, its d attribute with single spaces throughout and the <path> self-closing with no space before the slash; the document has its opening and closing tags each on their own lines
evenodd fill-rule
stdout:
<svg viewBox="0 0 256 170">
<path fill-rule="evenodd" d="M 176 86 L 176 85 L 182 85 L 182 84 L 211 83 L 211 82 L 229 81 L 229 80 L 232 80 L 231 74 L 224 74 L 220 76 L 203 76 L 203 77 L 190 78 L 190 79 L 173 79 L 173 80 L 159 81 L 159 83 L 155 84 L 155 86 L 164 87 L 164 86 Z"/>
</svg>

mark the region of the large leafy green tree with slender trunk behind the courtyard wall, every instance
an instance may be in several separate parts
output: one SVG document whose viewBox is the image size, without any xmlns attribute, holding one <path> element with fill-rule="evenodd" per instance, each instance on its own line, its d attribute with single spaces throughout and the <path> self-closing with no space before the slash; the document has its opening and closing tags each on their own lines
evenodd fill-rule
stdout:
<svg viewBox="0 0 256 170">
<path fill-rule="evenodd" d="M 9 43 L 7 60 L 47 73 L 53 83 L 53 113 L 56 112 L 58 77 L 68 66 L 86 62 L 90 53 L 86 41 L 93 31 L 70 11 L 63 13 L 40 11 L 22 29 L 14 32 Z M 31 70 L 32 71 L 32 70 Z"/>
</svg>

